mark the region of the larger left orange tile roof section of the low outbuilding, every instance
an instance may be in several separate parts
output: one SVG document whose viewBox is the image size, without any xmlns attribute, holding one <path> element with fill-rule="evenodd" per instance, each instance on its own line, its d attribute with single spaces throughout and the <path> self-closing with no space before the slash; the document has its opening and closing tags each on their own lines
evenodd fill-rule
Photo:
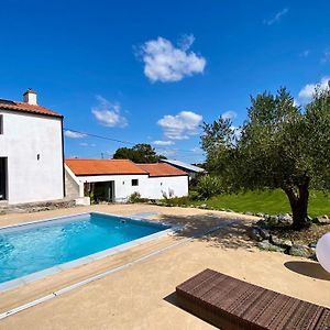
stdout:
<svg viewBox="0 0 330 330">
<path fill-rule="evenodd" d="M 75 175 L 147 174 L 129 160 L 65 160 Z"/>
</svg>

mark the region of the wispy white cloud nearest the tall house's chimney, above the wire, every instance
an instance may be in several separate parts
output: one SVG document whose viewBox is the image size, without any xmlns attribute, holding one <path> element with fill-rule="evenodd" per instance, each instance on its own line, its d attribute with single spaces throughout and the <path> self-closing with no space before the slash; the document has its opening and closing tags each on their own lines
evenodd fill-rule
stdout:
<svg viewBox="0 0 330 330">
<path fill-rule="evenodd" d="M 96 97 L 98 106 L 91 108 L 97 121 L 108 128 L 125 128 L 128 120 L 120 114 L 120 105 L 111 103 L 101 96 Z"/>
</svg>

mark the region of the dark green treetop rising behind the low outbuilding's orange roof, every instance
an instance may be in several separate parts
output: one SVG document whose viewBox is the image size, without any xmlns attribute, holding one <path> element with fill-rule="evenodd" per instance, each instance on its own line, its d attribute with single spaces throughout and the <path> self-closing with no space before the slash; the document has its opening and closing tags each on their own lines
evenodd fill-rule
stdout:
<svg viewBox="0 0 330 330">
<path fill-rule="evenodd" d="M 154 147 L 146 143 L 135 144 L 133 147 L 120 147 L 113 154 L 114 160 L 131 160 L 134 163 L 157 163 L 166 158 L 158 155 Z"/>
</svg>

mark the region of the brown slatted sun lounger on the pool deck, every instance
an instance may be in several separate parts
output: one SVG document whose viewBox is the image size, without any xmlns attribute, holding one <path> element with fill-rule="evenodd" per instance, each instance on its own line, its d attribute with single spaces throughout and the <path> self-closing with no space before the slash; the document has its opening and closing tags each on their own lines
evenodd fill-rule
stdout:
<svg viewBox="0 0 330 330">
<path fill-rule="evenodd" d="M 176 297 L 182 308 L 224 330 L 330 330 L 330 309 L 211 270 L 177 286 Z"/>
</svg>

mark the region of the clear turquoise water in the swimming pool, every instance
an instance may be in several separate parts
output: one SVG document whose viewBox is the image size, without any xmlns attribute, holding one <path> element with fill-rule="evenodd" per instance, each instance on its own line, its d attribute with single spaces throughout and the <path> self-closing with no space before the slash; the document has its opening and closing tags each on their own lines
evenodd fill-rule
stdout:
<svg viewBox="0 0 330 330">
<path fill-rule="evenodd" d="M 74 261 L 168 227 L 101 213 L 0 229 L 0 283 Z"/>
</svg>

